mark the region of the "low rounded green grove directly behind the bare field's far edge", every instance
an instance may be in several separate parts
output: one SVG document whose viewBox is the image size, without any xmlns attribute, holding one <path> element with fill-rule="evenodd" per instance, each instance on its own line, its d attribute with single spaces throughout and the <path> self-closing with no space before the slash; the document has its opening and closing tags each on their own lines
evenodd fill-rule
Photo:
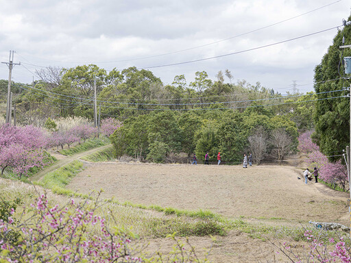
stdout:
<svg viewBox="0 0 351 263">
<path fill-rule="evenodd" d="M 118 156 L 167 162 L 171 153 L 187 153 L 188 158 L 196 153 L 202 160 L 207 151 L 213 158 L 220 151 L 230 164 L 241 162 L 248 151 L 258 163 L 267 156 L 282 160 L 297 150 L 297 138 L 293 121 L 261 108 L 243 113 L 152 112 L 128 118 L 111 136 Z"/>
</svg>

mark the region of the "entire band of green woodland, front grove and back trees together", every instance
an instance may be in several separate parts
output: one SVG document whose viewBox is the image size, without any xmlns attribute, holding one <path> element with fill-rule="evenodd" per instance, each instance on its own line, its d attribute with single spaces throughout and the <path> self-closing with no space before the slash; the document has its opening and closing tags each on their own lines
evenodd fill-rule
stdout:
<svg viewBox="0 0 351 263">
<path fill-rule="evenodd" d="M 216 81 L 198 71 L 189 84 L 178 75 L 171 85 L 135 67 L 107 73 L 90 64 L 37 74 L 42 80 L 32 85 L 12 85 L 19 123 L 43 126 L 48 118 L 66 116 L 93 119 L 96 83 L 101 118 L 123 122 L 112 138 L 117 154 L 141 160 L 165 162 L 173 154 L 203 156 L 206 151 L 221 151 L 233 163 L 244 151 L 252 151 L 256 162 L 265 156 L 282 160 L 296 150 L 297 128 L 313 127 L 314 105 L 308 102 L 313 92 L 283 97 L 260 83 L 234 84 L 228 70 L 219 71 Z M 7 83 L 1 84 L 5 93 Z"/>
</svg>

